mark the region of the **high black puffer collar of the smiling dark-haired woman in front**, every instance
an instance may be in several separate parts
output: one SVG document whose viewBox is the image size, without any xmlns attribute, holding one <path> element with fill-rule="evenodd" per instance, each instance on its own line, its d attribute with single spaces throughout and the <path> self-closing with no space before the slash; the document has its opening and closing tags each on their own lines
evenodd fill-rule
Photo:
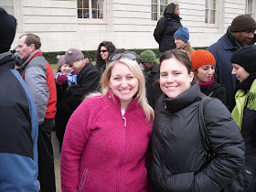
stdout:
<svg viewBox="0 0 256 192">
<path fill-rule="evenodd" d="M 165 110 L 171 113 L 179 112 L 180 110 L 183 110 L 191 103 L 198 100 L 198 96 L 201 93 L 200 87 L 198 82 L 195 82 L 191 88 L 189 88 L 187 91 L 183 92 L 181 95 L 178 95 L 176 98 L 171 99 L 168 98 L 165 94 L 163 94 L 165 97 L 164 104 L 165 104 Z"/>
</svg>

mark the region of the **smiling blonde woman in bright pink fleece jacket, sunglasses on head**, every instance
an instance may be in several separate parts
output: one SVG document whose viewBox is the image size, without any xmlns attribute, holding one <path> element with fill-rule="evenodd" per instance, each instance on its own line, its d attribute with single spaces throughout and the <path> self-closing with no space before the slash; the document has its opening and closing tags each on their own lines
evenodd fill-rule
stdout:
<svg viewBox="0 0 256 192">
<path fill-rule="evenodd" d="M 131 53 L 112 57 L 101 92 L 72 114 L 61 154 L 65 191 L 146 191 L 154 111 L 144 75 Z"/>
</svg>

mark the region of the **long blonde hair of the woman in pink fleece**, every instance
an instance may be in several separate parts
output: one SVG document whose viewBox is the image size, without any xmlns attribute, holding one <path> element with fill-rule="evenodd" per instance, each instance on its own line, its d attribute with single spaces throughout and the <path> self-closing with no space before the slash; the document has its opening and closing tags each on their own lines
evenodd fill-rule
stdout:
<svg viewBox="0 0 256 192">
<path fill-rule="evenodd" d="M 137 97 L 139 98 L 138 103 L 143 108 L 146 120 L 149 122 L 151 118 L 154 118 L 155 112 L 147 102 L 145 93 L 144 74 L 135 60 L 126 59 L 122 57 L 121 59 L 112 61 L 101 76 L 101 92 L 91 93 L 86 98 L 92 96 L 104 96 L 108 93 L 108 91 L 110 90 L 108 82 L 112 75 L 112 69 L 115 65 L 118 65 L 120 63 L 126 65 L 133 72 L 133 75 L 139 80 L 139 88 L 137 92 Z"/>
</svg>

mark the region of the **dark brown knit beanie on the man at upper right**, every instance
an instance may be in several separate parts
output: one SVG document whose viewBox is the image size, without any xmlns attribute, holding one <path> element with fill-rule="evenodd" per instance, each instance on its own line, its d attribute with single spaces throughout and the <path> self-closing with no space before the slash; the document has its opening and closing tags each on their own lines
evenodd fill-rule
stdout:
<svg viewBox="0 0 256 192">
<path fill-rule="evenodd" d="M 256 22 L 250 15 L 236 16 L 230 26 L 230 31 L 238 32 L 256 29 Z"/>
</svg>

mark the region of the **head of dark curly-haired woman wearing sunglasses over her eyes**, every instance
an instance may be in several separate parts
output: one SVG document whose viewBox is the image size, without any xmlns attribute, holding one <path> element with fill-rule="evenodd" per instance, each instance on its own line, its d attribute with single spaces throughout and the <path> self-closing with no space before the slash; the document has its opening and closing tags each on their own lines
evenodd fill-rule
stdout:
<svg viewBox="0 0 256 192">
<path fill-rule="evenodd" d="M 110 56 L 115 50 L 116 48 L 111 41 L 103 41 L 97 48 L 96 67 L 99 69 L 101 75 L 110 63 Z"/>
</svg>

